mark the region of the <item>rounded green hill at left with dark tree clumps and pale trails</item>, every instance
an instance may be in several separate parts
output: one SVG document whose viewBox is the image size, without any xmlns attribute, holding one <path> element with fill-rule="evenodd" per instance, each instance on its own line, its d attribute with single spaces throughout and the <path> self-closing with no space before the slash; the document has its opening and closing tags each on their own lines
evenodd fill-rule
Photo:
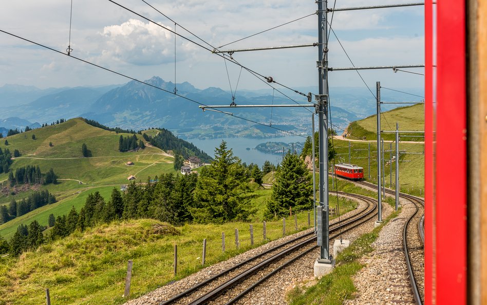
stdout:
<svg viewBox="0 0 487 305">
<path fill-rule="evenodd" d="M 35 134 L 36 140 L 32 140 L 32 134 Z M 13 170 L 26 165 L 39 165 L 42 172 L 53 168 L 59 176 L 60 183 L 41 186 L 41 189 L 48 189 L 54 193 L 59 200 L 58 203 L 0 225 L 0 235 L 9 239 L 18 225 L 29 224 L 33 220 L 47 225 L 50 213 L 58 216 L 67 213 L 72 206 L 79 209 L 91 192 L 99 190 L 105 199 L 108 199 L 111 189 L 128 183 L 126 177 L 129 175 L 135 175 L 139 179 L 136 182 L 145 182 L 147 176 L 175 172 L 173 158 L 158 148 L 146 147 L 138 152 L 119 152 L 120 135 L 129 134 L 117 134 L 92 127 L 82 119 L 71 119 L 62 124 L 10 136 L 7 147 L 2 141 L 0 148 L 9 148 L 12 152 L 18 149 L 22 153 L 21 157 L 15 159 Z M 143 139 L 142 136 L 137 136 Z M 49 142 L 52 142 L 53 147 L 49 146 Z M 81 156 L 83 143 L 91 150 L 92 157 Z M 126 166 L 128 160 L 135 165 Z M 6 180 L 7 177 L 7 174 L 0 175 L 0 181 Z M 80 180 L 83 184 L 62 179 Z M 21 200 L 31 192 L 0 196 L 0 204 L 7 204 L 11 199 Z"/>
</svg>

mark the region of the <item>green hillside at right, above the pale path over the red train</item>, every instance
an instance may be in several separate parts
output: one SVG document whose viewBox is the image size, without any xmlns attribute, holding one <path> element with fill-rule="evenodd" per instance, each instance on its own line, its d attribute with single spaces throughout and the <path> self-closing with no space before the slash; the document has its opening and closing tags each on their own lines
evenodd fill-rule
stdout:
<svg viewBox="0 0 487 305">
<path fill-rule="evenodd" d="M 423 131 L 424 130 L 424 105 L 400 107 L 381 116 L 381 130 L 396 130 L 396 122 L 399 123 L 399 130 Z M 351 139 L 377 140 L 377 116 L 372 115 L 360 121 L 350 123 L 346 129 Z M 422 136 L 422 133 L 410 134 Z M 394 134 L 383 134 L 385 140 L 394 140 Z M 404 141 L 423 141 L 422 137 L 404 137 Z"/>
</svg>

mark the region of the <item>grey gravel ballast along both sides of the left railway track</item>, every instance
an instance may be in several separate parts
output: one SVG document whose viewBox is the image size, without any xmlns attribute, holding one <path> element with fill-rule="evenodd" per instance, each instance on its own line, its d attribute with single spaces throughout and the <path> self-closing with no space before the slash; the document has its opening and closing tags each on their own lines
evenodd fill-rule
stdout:
<svg viewBox="0 0 487 305">
<path fill-rule="evenodd" d="M 360 204 L 358 210 L 360 210 L 362 207 L 365 206 L 365 203 L 363 203 L 362 201 L 359 201 L 359 203 Z M 385 216 L 390 214 L 391 211 L 392 208 L 390 206 L 384 205 L 383 214 Z M 357 210 L 344 214 L 343 217 L 351 216 L 352 214 L 355 213 L 357 213 Z M 330 221 L 330 223 L 333 223 L 335 221 L 338 221 L 338 219 Z M 372 219 L 367 223 L 364 223 L 363 225 L 359 226 L 358 228 L 355 228 L 350 232 L 347 232 L 346 234 L 343 235 L 343 239 L 353 241 L 354 239 L 362 235 L 365 231 L 370 231 L 373 228 L 374 221 L 375 219 Z M 312 231 L 312 229 L 309 229 L 306 232 L 308 231 Z M 260 246 L 258 248 L 249 250 L 248 252 L 240 254 L 227 261 L 220 262 L 212 266 L 209 266 L 207 268 L 204 268 L 203 270 L 193 275 L 190 275 L 184 279 L 181 279 L 177 282 L 162 286 L 161 288 L 153 292 L 150 292 L 138 299 L 130 300 L 125 304 L 126 305 L 159 304 L 163 300 L 169 299 L 172 296 L 181 293 L 186 289 L 191 288 L 196 283 L 199 283 L 219 273 L 220 271 L 232 265 L 237 264 L 242 260 L 245 260 L 258 253 L 264 252 L 264 250 L 266 249 L 269 249 L 275 245 L 283 243 L 284 241 L 293 239 L 299 235 L 302 235 L 303 233 L 304 232 L 299 232 L 297 234 L 290 235 L 285 238 L 270 242 L 266 245 Z M 332 251 L 333 242 L 334 240 L 332 240 L 330 243 L 330 251 Z M 287 267 L 284 270 L 276 273 L 273 277 L 268 279 L 266 282 L 264 282 L 256 289 L 254 289 L 247 296 L 243 297 L 241 300 L 237 302 L 237 304 L 283 304 L 283 305 L 286 304 L 287 291 L 294 288 L 296 284 L 302 283 L 303 281 L 311 281 L 311 282 L 314 281 L 313 265 L 318 256 L 319 256 L 319 250 L 316 250 L 316 251 L 312 251 L 310 254 L 304 256 L 303 258 L 298 259 L 293 264 L 291 264 L 290 267 Z M 194 297 L 195 296 L 193 295 L 192 298 Z M 218 300 L 221 301 L 222 299 L 229 299 L 229 297 L 231 297 L 231 295 L 226 297 L 223 295 L 221 298 L 217 299 L 216 301 Z M 211 304 L 216 304 L 217 303 L 216 301 L 211 302 Z M 184 302 L 181 302 L 181 304 L 182 303 Z"/>
</svg>

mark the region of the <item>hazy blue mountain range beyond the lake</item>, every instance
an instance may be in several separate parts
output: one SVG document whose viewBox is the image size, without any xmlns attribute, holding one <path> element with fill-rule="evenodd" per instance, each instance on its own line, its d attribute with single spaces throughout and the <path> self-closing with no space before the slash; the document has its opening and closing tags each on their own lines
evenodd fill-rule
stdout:
<svg viewBox="0 0 487 305">
<path fill-rule="evenodd" d="M 176 84 L 159 77 L 123 85 L 103 87 L 74 87 L 39 89 L 32 86 L 4 85 L 0 87 L 0 132 L 37 126 L 34 122 L 50 123 L 59 118 L 85 117 L 110 127 L 125 129 L 166 128 L 182 138 L 247 136 L 269 137 L 284 135 L 282 131 L 258 123 L 272 125 L 295 133 L 309 132 L 312 109 L 252 108 L 232 109 L 233 115 L 214 111 L 202 112 L 199 104 L 230 104 L 232 94 L 217 87 L 198 89 L 188 82 Z M 161 90 L 162 89 L 162 90 Z M 316 92 L 314 87 L 299 88 Z M 335 93 L 336 92 L 336 93 Z M 368 95 L 367 95 L 368 93 Z M 286 93 L 287 94 L 287 93 Z M 295 95 L 292 95 L 293 97 Z M 345 128 L 349 122 L 375 112 L 375 101 L 367 89 L 336 88 L 330 93 L 332 123 Z M 396 94 L 394 98 L 400 98 Z M 392 99 L 391 99 L 392 100 Z M 299 96 L 294 101 L 272 90 L 237 91 L 237 104 L 307 103 Z M 237 118 L 241 117 L 242 119 Z M 3 129 L 2 129 L 3 128 Z M 32 127 L 31 127 L 32 128 Z M 35 127 L 34 127 L 35 128 Z M 6 132 L 4 136 L 6 135 Z"/>
</svg>

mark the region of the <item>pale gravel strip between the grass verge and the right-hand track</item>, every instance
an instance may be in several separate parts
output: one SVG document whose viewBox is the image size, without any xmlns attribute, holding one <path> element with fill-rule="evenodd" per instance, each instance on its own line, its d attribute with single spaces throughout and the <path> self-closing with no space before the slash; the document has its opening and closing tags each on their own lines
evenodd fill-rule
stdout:
<svg viewBox="0 0 487 305">
<path fill-rule="evenodd" d="M 405 199 L 401 205 L 399 216 L 385 225 L 372 243 L 373 252 L 360 259 L 366 266 L 354 276 L 358 291 L 346 305 L 415 304 L 402 245 L 404 224 L 415 207 Z"/>
</svg>

